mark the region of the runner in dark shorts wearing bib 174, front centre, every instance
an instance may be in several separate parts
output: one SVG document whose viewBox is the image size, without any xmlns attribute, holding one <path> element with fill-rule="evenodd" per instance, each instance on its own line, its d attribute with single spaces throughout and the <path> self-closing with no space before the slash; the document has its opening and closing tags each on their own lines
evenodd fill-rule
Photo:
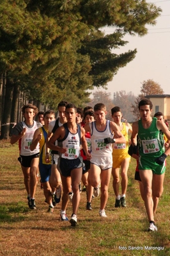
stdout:
<svg viewBox="0 0 170 256">
<path fill-rule="evenodd" d="M 79 183 L 82 177 L 82 157 L 80 156 L 80 144 L 84 149 L 87 159 L 91 158 L 88 153 L 88 145 L 85 139 L 84 129 L 75 121 L 77 108 L 72 103 L 66 105 L 67 123 L 60 126 L 52 135 L 48 142 L 48 147 L 59 151 L 58 168 L 61 173 L 63 184 L 63 198 L 61 205 L 61 219 L 68 220 L 66 216 L 66 206 L 68 204 L 68 193 L 72 187 L 72 217 L 70 219 L 71 226 L 77 225 L 77 210 L 81 199 L 79 191 Z M 54 142 L 58 140 L 58 146 Z"/>
</svg>

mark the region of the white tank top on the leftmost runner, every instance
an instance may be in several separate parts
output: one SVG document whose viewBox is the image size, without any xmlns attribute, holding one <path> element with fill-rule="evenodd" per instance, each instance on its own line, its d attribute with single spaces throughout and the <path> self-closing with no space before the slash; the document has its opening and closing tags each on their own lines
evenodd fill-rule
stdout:
<svg viewBox="0 0 170 256">
<path fill-rule="evenodd" d="M 20 141 L 20 155 L 28 156 L 28 155 L 35 155 L 36 153 L 40 152 L 40 145 L 37 144 L 36 148 L 31 151 L 30 150 L 30 144 L 33 141 L 33 135 L 35 133 L 35 130 L 42 127 L 42 124 L 36 123 L 36 121 L 33 121 L 33 127 L 29 128 L 27 125 L 22 122 L 23 127 L 26 127 L 26 134 L 21 137 Z"/>
</svg>

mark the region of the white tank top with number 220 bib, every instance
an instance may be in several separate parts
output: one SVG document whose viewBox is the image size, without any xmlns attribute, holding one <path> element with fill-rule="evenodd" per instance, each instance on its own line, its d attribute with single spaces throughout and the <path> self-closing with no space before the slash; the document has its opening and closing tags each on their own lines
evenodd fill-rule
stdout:
<svg viewBox="0 0 170 256">
<path fill-rule="evenodd" d="M 89 124 L 91 128 L 91 157 L 107 157 L 112 155 L 112 144 L 105 144 L 104 138 L 110 137 L 113 135 L 110 130 L 110 121 L 106 120 L 105 130 L 100 132 L 96 128 L 96 122 Z"/>
</svg>

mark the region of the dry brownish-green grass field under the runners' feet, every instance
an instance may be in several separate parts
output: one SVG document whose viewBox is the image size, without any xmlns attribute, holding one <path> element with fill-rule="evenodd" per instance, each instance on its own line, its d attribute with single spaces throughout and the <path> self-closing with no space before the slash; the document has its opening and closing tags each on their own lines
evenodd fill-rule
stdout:
<svg viewBox="0 0 170 256">
<path fill-rule="evenodd" d="M 18 145 L 0 141 L 0 255 L 44 256 L 111 256 L 170 255 L 169 230 L 169 165 L 164 193 L 158 205 L 155 221 L 158 232 L 147 232 L 148 220 L 139 185 L 134 180 L 135 160 L 128 170 L 127 208 L 114 208 L 112 180 L 105 212 L 98 215 L 100 198 L 92 201 L 93 210 L 86 210 L 86 193 L 81 193 L 78 223 L 75 228 L 59 219 L 59 203 L 53 214 L 47 213 L 40 182 L 36 189 L 37 210 L 27 207 L 27 194 L 20 164 Z M 67 209 L 68 218 L 72 205 Z"/>
</svg>

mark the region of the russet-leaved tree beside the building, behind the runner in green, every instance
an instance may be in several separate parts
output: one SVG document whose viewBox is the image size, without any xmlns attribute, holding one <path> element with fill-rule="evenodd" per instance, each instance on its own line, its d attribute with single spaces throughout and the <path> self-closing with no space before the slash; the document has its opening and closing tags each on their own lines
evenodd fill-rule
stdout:
<svg viewBox="0 0 170 256">
<path fill-rule="evenodd" d="M 139 94 L 135 100 L 135 103 L 132 104 L 132 113 L 135 115 L 137 119 L 140 118 L 139 114 L 139 101 L 141 99 L 144 99 L 146 95 L 158 95 L 158 94 L 164 94 L 164 90 L 160 87 L 159 83 L 148 79 L 147 81 L 143 81 L 141 86 L 141 94 Z"/>
</svg>

